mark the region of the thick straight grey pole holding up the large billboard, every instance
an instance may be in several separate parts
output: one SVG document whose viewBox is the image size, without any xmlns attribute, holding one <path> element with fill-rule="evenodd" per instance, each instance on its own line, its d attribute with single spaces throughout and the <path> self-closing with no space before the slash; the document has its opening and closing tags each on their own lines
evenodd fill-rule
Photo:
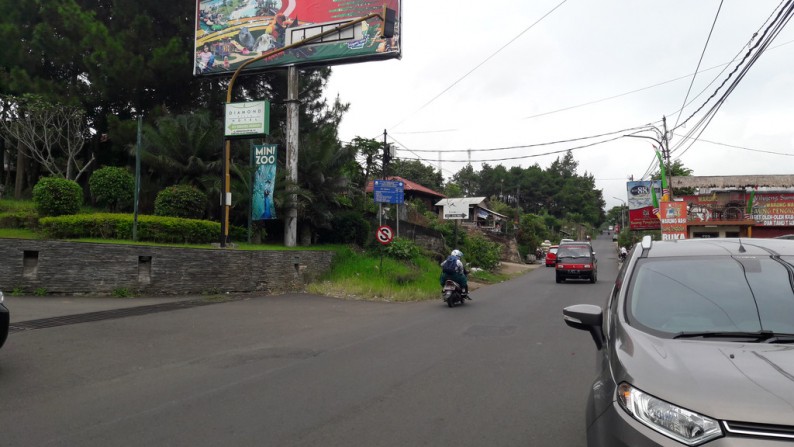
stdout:
<svg viewBox="0 0 794 447">
<path fill-rule="evenodd" d="M 287 69 L 287 179 L 290 194 L 287 199 L 287 216 L 284 219 L 284 246 L 297 245 L 298 233 L 298 195 L 295 188 L 298 185 L 298 69 L 290 65 Z"/>
</svg>

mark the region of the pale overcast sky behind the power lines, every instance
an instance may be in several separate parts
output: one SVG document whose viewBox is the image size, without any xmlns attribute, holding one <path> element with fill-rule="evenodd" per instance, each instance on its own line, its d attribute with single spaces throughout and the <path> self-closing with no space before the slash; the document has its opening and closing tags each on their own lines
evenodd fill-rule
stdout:
<svg viewBox="0 0 794 447">
<path fill-rule="evenodd" d="M 533 164 L 545 169 L 564 153 L 541 154 L 649 123 L 661 129 L 663 116 L 668 129 L 686 121 L 673 132 L 672 158 L 680 158 L 694 175 L 794 174 L 792 24 L 739 81 L 700 141 L 679 146 L 715 100 L 687 118 L 758 41 L 781 0 L 720 5 L 720 0 L 408 0 L 402 10 L 402 59 L 334 67 L 327 94 L 350 103 L 340 128 L 343 141 L 382 139 L 386 129 L 398 157 L 421 158 L 436 169 L 440 157 L 445 179 L 469 157 L 475 170 L 480 160 L 508 169 Z M 690 84 L 688 105 L 679 114 Z M 480 150 L 607 133 L 612 135 Z M 626 200 L 627 177 L 640 180 L 653 162 L 652 144 L 623 137 L 575 149 L 577 172 L 595 177 L 607 209 L 620 205 L 615 197 Z M 453 152 L 467 149 L 470 155 Z"/>
</svg>

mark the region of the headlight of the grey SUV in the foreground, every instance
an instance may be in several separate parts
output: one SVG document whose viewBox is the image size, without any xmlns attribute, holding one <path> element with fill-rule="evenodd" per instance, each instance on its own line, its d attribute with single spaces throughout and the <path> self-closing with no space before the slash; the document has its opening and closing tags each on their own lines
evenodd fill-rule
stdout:
<svg viewBox="0 0 794 447">
<path fill-rule="evenodd" d="M 677 407 L 627 383 L 618 387 L 618 401 L 638 421 L 686 445 L 694 446 L 722 436 L 716 420 Z"/>
</svg>

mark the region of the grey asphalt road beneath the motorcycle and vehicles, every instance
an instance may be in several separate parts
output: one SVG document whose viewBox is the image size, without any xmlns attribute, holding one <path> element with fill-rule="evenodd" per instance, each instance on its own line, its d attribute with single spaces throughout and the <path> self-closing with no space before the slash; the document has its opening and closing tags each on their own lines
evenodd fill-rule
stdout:
<svg viewBox="0 0 794 447">
<path fill-rule="evenodd" d="M 312 295 L 17 332 L 0 350 L 2 446 L 585 445 L 594 376 L 569 304 L 599 282 L 540 267 L 449 309 Z"/>
</svg>

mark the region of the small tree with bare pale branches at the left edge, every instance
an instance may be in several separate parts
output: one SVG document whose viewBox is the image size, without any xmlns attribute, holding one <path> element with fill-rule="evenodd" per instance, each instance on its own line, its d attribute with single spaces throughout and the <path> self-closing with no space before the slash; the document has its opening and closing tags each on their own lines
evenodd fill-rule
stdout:
<svg viewBox="0 0 794 447">
<path fill-rule="evenodd" d="M 3 105 L 8 119 L 0 120 L 0 128 L 50 175 L 76 181 L 94 162 L 93 154 L 87 162 L 79 157 L 88 133 L 81 110 L 27 95 L 5 97 Z"/>
</svg>

